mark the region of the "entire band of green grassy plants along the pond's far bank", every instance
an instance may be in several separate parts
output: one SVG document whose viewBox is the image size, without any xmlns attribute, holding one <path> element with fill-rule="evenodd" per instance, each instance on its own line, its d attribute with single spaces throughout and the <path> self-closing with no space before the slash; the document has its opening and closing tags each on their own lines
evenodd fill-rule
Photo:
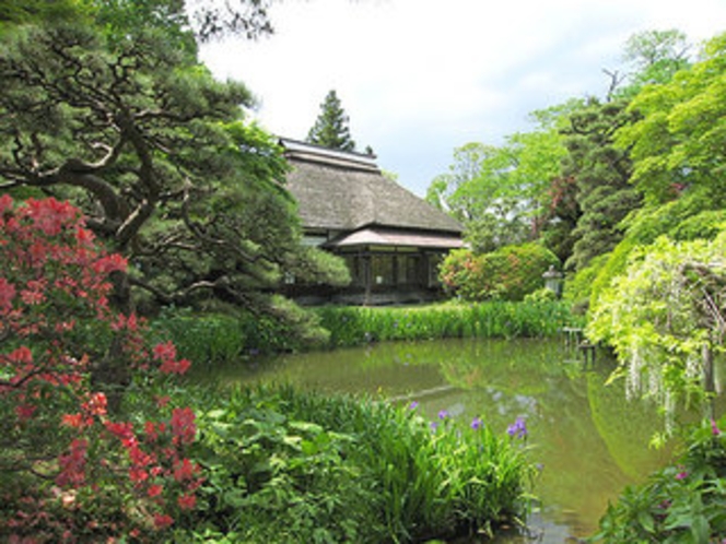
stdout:
<svg viewBox="0 0 726 544">
<path fill-rule="evenodd" d="M 152 322 L 153 334 L 172 340 L 197 366 L 230 363 L 260 354 L 353 347 L 372 342 L 445 338 L 547 338 L 581 327 L 566 303 L 448 301 L 406 307 L 323 306 L 313 314 L 323 331 L 313 342 L 294 341 L 269 318 L 178 310 Z"/>
</svg>

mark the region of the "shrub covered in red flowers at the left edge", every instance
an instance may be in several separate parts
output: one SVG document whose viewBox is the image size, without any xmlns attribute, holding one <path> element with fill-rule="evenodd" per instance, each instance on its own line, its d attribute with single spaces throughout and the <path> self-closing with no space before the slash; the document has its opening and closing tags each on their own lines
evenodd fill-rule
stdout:
<svg viewBox="0 0 726 544">
<path fill-rule="evenodd" d="M 201 485 L 185 457 L 194 412 L 152 393 L 189 363 L 113 309 L 109 277 L 127 263 L 70 204 L 0 197 L 0 255 L 2 540 L 156 537 Z"/>
</svg>

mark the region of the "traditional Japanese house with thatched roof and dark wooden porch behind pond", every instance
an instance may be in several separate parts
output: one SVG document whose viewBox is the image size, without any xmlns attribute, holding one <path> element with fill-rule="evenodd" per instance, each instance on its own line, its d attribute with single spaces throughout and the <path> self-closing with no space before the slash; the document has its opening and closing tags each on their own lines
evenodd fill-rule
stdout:
<svg viewBox="0 0 726 544">
<path fill-rule="evenodd" d="M 375 157 L 294 140 L 280 141 L 292 166 L 288 189 L 300 206 L 305 243 L 346 259 L 344 289 L 295 284 L 303 303 L 401 304 L 441 296 L 437 268 L 462 246 L 461 225 L 391 179 Z"/>
</svg>

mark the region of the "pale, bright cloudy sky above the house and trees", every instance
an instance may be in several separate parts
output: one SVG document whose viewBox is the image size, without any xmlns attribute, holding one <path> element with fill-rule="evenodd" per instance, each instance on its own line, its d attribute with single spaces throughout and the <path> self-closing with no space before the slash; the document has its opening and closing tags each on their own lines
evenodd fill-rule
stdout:
<svg viewBox="0 0 726 544">
<path fill-rule="evenodd" d="M 250 116 L 280 137 L 305 140 L 335 90 L 358 150 L 424 196 L 456 147 L 604 97 L 633 34 L 678 28 L 698 45 L 726 32 L 726 0 L 282 0 L 270 17 L 273 35 L 206 45 L 202 60 L 244 82 Z"/>
</svg>

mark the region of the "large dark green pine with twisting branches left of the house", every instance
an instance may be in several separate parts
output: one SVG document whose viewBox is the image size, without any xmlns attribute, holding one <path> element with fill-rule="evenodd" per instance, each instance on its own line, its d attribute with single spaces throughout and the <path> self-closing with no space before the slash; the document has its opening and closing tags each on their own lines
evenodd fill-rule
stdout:
<svg viewBox="0 0 726 544">
<path fill-rule="evenodd" d="M 244 120 L 247 88 L 215 81 L 183 32 L 131 15 L 3 37 L 0 190 L 78 202 L 157 304 L 270 309 L 284 272 L 344 282 L 300 244 L 281 151 Z"/>
</svg>

